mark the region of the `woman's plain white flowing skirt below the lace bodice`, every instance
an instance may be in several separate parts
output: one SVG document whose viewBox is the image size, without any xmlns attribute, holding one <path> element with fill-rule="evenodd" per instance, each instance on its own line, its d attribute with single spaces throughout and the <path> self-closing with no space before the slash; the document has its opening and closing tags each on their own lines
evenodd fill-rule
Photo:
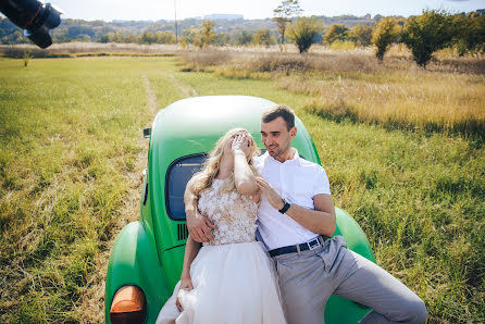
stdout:
<svg viewBox="0 0 485 324">
<path fill-rule="evenodd" d="M 190 276 L 194 289 L 178 292 L 183 312 L 178 282 L 157 323 L 286 323 L 274 266 L 258 241 L 203 246 Z"/>
</svg>

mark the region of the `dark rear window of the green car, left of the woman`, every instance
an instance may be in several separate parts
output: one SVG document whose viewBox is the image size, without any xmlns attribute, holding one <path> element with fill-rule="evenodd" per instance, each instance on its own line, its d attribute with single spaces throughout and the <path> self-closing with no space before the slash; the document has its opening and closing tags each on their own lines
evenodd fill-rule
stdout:
<svg viewBox="0 0 485 324">
<path fill-rule="evenodd" d="M 188 180 L 200 171 L 207 154 L 194 154 L 175 160 L 165 178 L 166 211 L 175 221 L 185 220 L 184 192 Z"/>
</svg>

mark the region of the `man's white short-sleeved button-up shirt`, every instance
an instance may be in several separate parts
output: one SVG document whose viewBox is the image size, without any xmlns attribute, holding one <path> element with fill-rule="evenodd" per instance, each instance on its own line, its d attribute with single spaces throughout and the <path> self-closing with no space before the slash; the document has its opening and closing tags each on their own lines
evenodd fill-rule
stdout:
<svg viewBox="0 0 485 324">
<path fill-rule="evenodd" d="M 294 158 L 283 163 L 265 152 L 254 158 L 254 166 L 283 199 L 313 210 L 314 196 L 331 195 L 328 178 L 322 166 L 300 158 L 294 150 Z M 318 236 L 281 214 L 264 195 L 258 210 L 258 229 L 270 250 L 302 244 Z"/>
</svg>

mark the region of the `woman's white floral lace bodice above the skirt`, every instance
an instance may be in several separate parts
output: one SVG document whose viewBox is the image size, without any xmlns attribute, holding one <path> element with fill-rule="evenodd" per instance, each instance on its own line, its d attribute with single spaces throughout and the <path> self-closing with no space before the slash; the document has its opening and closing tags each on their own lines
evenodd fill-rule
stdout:
<svg viewBox="0 0 485 324">
<path fill-rule="evenodd" d="M 258 204 L 250 196 L 244 196 L 233 189 L 222 190 L 226 180 L 214 179 L 212 186 L 200 195 L 199 211 L 211 220 L 214 241 L 203 245 L 226 245 L 254 240 Z"/>
</svg>

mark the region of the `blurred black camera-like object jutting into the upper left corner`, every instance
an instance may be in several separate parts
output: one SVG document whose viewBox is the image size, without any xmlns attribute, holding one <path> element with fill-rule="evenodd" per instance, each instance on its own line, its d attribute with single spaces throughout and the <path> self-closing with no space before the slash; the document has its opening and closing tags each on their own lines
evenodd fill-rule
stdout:
<svg viewBox="0 0 485 324">
<path fill-rule="evenodd" d="M 40 48 L 52 45 L 49 29 L 61 24 L 62 10 L 38 0 L 0 0 L 0 11 Z"/>
</svg>

